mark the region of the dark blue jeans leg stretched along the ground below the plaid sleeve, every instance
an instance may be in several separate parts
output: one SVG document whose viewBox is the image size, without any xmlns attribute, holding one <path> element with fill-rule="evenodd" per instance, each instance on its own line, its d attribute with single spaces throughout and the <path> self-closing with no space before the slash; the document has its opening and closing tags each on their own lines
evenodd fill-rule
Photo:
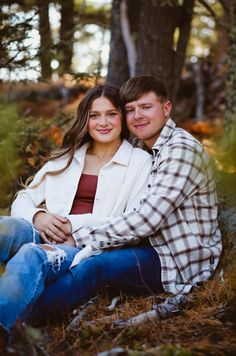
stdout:
<svg viewBox="0 0 236 356">
<path fill-rule="evenodd" d="M 33 310 L 35 320 L 72 310 L 107 288 L 112 293 L 156 294 L 162 290 L 161 265 L 150 246 L 114 249 L 92 256 L 50 283 Z"/>
</svg>

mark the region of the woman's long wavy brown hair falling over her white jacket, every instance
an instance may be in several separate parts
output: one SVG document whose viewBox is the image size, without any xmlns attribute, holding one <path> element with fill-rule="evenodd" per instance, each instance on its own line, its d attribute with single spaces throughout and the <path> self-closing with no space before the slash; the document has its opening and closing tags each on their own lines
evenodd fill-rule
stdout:
<svg viewBox="0 0 236 356">
<path fill-rule="evenodd" d="M 31 188 L 39 186 L 39 184 L 44 180 L 46 175 L 54 176 L 64 172 L 70 166 L 75 151 L 86 142 L 92 142 L 93 139 L 88 133 L 89 111 L 91 109 L 93 101 L 100 97 L 107 98 L 118 110 L 122 119 L 121 139 L 128 138 L 129 132 L 125 120 L 125 109 L 120 101 L 119 90 L 111 85 L 97 85 L 96 87 L 88 90 L 81 102 L 79 103 L 75 120 L 72 126 L 65 133 L 60 147 L 53 151 L 44 160 L 44 163 L 46 163 L 62 156 L 68 156 L 68 160 L 65 167 L 56 171 L 46 172 L 42 176 L 40 181 L 37 184 L 31 186 Z M 33 178 L 30 177 L 29 179 L 32 180 Z M 26 181 L 26 185 L 29 184 L 29 179 Z"/>
</svg>

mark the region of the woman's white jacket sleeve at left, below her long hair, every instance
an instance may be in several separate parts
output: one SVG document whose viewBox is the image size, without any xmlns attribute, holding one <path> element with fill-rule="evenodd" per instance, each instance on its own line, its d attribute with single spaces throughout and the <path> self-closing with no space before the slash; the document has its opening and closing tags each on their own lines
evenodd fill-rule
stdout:
<svg viewBox="0 0 236 356">
<path fill-rule="evenodd" d="M 47 171 L 49 171 L 48 163 L 37 172 L 29 187 L 17 193 L 17 197 L 11 206 L 11 216 L 24 218 L 30 223 L 33 223 L 33 217 L 38 211 L 47 211 L 46 209 L 38 208 L 45 200 L 45 184 L 47 178 L 45 177 L 38 186 L 31 188 L 40 182 Z"/>
</svg>

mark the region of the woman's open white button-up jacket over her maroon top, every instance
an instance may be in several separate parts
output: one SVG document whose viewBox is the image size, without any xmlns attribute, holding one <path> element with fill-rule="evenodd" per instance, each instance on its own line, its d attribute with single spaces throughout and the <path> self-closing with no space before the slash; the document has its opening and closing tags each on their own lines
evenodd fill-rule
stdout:
<svg viewBox="0 0 236 356">
<path fill-rule="evenodd" d="M 88 147 L 89 144 L 85 144 L 76 151 L 71 165 L 63 173 L 46 175 L 38 186 L 31 188 L 40 182 L 45 172 L 65 167 L 68 158 L 47 162 L 30 186 L 18 193 L 12 204 L 11 215 L 32 223 L 36 212 L 42 210 L 39 205 L 44 203 L 45 211 L 68 217 L 75 231 L 85 225 L 102 223 L 107 217 L 117 216 L 125 209 L 136 206 L 147 186 L 151 155 L 123 140 L 113 158 L 99 172 L 93 214 L 70 214 Z"/>
</svg>

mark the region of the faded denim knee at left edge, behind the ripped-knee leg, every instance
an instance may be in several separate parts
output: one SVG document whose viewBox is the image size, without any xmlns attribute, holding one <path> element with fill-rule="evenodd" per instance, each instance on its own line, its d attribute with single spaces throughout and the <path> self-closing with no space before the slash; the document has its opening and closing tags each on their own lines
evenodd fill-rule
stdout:
<svg viewBox="0 0 236 356">
<path fill-rule="evenodd" d="M 0 263 L 6 263 L 27 242 L 41 242 L 32 224 L 24 219 L 0 217 Z"/>
</svg>

